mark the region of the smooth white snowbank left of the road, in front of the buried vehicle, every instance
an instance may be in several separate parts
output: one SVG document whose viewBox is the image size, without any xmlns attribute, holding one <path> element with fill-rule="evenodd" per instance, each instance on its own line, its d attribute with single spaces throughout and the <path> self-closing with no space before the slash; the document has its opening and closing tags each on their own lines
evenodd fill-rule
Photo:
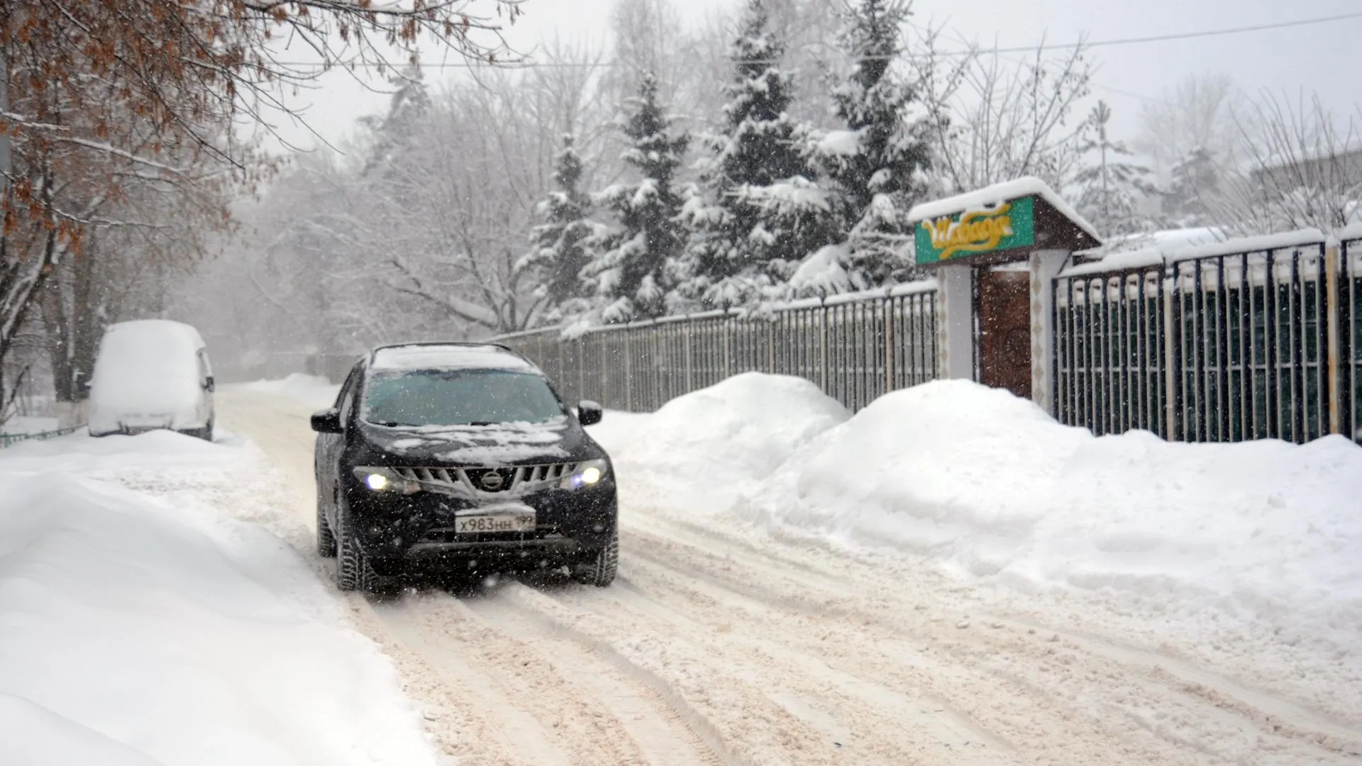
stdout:
<svg viewBox="0 0 1362 766">
<path fill-rule="evenodd" d="M 293 549 L 168 489 L 230 492 L 245 454 L 166 431 L 0 454 L 0 763 L 436 762 Z"/>
</svg>

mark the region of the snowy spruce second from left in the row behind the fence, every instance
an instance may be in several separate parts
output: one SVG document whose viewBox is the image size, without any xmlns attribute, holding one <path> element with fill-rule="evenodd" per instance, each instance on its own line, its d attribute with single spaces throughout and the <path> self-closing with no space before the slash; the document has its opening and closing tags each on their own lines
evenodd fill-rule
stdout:
<svg viewBox="0 0 1362 766">
<path fill-rule="evenodd" d="M 624 135 L 631 146 L 622 159 L 640 179 L 616 184 L 592 199 L 620 218 L 618 228 L 592 237 L 599 255 L 586 270 L 605 303 L 601 319 L 607 323 L 661 316 L 671 288 L 669 274 L 678 269 L 685 248 L 681 196 L 673 183 L 691 139 L 671 134 L 673 120 L 658 102 L 658 82 L 651 72 L 629 101 L 633 113 L 624 124 Z"/>
</svg>

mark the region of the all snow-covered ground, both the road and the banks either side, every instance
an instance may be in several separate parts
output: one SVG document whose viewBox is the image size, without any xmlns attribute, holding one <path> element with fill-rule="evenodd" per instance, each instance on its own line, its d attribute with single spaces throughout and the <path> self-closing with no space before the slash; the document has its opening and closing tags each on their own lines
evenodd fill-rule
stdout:
<svg viewBox="0 0 1362 766">
<path fill-rule="evenodd" d="M 249 443 L 0 453 L 30 488 L 0 500 L 0 763 L 1362 758 L 1348 444 L 1092 439 L 960 383 L 850 417 L 748 375 L 592 428 L 614 586 L 369 601 L 317 582 L 327 388 L 223 387 Z"/>
</svg>

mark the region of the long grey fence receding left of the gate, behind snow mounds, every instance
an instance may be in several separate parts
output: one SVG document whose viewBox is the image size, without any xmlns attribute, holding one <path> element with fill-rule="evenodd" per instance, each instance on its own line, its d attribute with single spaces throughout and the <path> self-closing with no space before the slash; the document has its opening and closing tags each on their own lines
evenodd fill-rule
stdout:
<svg viewBox="0 0 1362 766">
<path fill-rule="evenodd" d="M 795 375 L 855 410 L 937 376 L 936 281 L 799 301 L 761 315 L 715 312 L 497 338 L 534 360 L 568 401 L 650 412 L 740 372 Z"/>
</svg>

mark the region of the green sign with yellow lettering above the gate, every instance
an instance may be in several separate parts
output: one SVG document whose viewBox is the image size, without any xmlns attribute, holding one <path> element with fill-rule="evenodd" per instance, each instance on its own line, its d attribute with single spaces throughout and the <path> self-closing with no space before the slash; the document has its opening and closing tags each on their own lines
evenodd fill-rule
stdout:
<svg viewBox="0 0 1362 766">
<path fill-rule="evenodd" d="M 917 262 L 941 263 L 1031 247 L 1035 244 L 1034 200 L 1034 196 L 1023 196 L 987 210 L 919 221 L 915 232 Z"/>
</svg>

